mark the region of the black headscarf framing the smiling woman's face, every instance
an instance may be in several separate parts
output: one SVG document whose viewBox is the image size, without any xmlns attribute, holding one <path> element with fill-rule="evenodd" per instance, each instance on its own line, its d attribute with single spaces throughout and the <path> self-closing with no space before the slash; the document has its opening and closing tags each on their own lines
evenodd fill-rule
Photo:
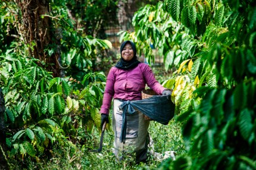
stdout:
<svg viewBox="0 0 256 170">
<path fill-rule="evenodd" d="M 123 51 L 123 48 L 124 46 L 127 44 L 127 43 L 130 43 L 132 45 L 132 49 L 133 49 L 133 58 L 130 60 L 130 61 L 126 61 L 123 59 L 123 57 L 121 57 L 120 61 L 117 62 L 117 64 L 115 65 L 115 67 L 117 68 L 120 68 L 122 70 L 129 70 L 131 68 L 135 68 L 137 67 L 137 65 L 141 62 L 138 61 L 137 59 L 137 56 L 136 56 L 136 53 L 137 53 L 137 50 L 136 50 L 136 46 L 135 44 L 130 41 L 130 40 L 127 40 L 125 42 L 123 42 L 121 44 L 121 47 L 120 47 L 120 53 L 121 53 L 121 56 L 122 56 L 122 51 Z"/>
</svg>

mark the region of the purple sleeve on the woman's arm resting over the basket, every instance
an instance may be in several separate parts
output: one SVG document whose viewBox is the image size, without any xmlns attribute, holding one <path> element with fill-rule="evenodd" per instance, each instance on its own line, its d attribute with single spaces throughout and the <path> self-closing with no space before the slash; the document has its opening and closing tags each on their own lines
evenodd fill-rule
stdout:
<svg viewBox="0 0 256 170">
<path fill-rule="evenodd" d="M 155 80 L 155 75 L 152 73 L 151 68 L 147 64 L 145 64 L 145 67 L 143 67 L 143 77 L 145 78 L 148 87 L 154 90 L 154 92 L 158 95 L 162 95 L 166 88 L 164 88 L 157 80 Z"/>
</svg>

